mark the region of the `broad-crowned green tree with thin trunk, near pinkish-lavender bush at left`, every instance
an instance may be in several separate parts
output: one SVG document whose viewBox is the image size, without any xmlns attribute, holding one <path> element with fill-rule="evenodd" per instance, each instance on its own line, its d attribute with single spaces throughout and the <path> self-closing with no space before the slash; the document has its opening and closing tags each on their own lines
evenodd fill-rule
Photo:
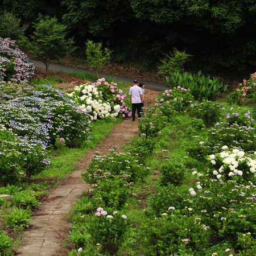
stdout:
<svg viewBox="0 0 256 256">
<path fill-rule="evenodd" d="M 75 49 L 74 41 L 73 38 L 66 39 L 67 26 L 58 23 L 56 18 L 39 16 L 34 28 L 32 41 L 23 36 L 20 44 L 46 65 L 47 73 L 51 61 L 66 57 Z"/>
</svg>

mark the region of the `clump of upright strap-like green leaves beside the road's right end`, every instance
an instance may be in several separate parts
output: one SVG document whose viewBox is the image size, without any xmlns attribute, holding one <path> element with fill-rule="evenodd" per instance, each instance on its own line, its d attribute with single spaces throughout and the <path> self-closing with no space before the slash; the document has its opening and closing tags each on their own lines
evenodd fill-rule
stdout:
<svg viewBox="0 0 256 256">
<path fill-rule="evenodd" d="M 203 98 L 206 100 L 214 100 L 220 93 L 226 92 L 228 85 L 224 85 L 220 79 L 210 75 L 207 77 L 199 71 L 197 75 L 192 73 L 175 72 L 170 77 L 166 77 L 167 86 L 182 87 L 189 89 L 191 94 L 196 100 L 201 101 Z"/>
</svg>

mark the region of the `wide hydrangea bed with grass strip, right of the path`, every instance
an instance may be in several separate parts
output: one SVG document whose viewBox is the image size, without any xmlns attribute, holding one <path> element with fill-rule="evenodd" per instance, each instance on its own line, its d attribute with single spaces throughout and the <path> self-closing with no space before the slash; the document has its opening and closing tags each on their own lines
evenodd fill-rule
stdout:
<svg viewBox="0 0 256 256">
<path fill-rule="evenodd" d="M 91 188 L 83 193 L 86 210 L 71 210 L 68 240 L 76 249 L 69 255 L 255 253 L 254 106 L 197 102 L 181 86 L 169 90 L 144 109 L 125 159 L 98 155 L 82 175 Z M 139 175 L 133 162 L 149 168 L 146 179 L 130 180 Z M 133 225 L 111 251 L 88 223 L 105 217 L 102 236 L 113 235 L 118 210 Z"/>
</svg>

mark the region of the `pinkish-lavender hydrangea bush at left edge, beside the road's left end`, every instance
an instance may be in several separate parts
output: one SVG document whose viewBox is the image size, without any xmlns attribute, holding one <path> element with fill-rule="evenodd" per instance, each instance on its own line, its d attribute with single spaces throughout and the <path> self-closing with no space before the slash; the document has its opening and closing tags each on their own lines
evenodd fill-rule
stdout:
<svg viewBox="0 0 256 256">
<path fill-rule="evenodd" d="M 0 81 L 22 81 L 34 74 L 32 61 L 15 45 L 15 40 L 0 37 Z"/>
</svg>

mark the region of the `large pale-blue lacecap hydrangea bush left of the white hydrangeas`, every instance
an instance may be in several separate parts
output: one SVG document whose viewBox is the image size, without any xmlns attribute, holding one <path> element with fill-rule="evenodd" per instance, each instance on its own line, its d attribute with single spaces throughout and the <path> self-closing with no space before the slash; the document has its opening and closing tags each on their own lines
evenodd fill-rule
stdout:
<svg viewBox="0 0 256 256">
<path fill-rule="evenodd" d="M 88 139 L 88 115 L 51 86 L 33 91 L 32 97 L 5 102 L 1 105 L 0 114 L 0 122 L 20 138 L 35 139 L 47 146 L 55 143 L 57 135 L 63 137 L 67 144 L 73 139 L 82 142 Z"/>
</svg>

